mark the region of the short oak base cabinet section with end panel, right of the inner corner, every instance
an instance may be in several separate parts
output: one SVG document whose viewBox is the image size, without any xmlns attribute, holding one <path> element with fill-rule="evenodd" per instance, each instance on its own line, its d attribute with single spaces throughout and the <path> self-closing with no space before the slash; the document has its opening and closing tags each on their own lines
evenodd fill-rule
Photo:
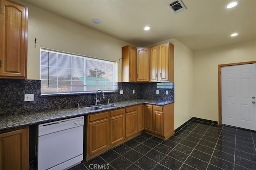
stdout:
<svg viewBox="0 0 256 170">
<path fill-rule="evenodd" d="M 145 105 L 145 133 L 164 140 L 174 134 L 174 103 Z"/>
</svg>

